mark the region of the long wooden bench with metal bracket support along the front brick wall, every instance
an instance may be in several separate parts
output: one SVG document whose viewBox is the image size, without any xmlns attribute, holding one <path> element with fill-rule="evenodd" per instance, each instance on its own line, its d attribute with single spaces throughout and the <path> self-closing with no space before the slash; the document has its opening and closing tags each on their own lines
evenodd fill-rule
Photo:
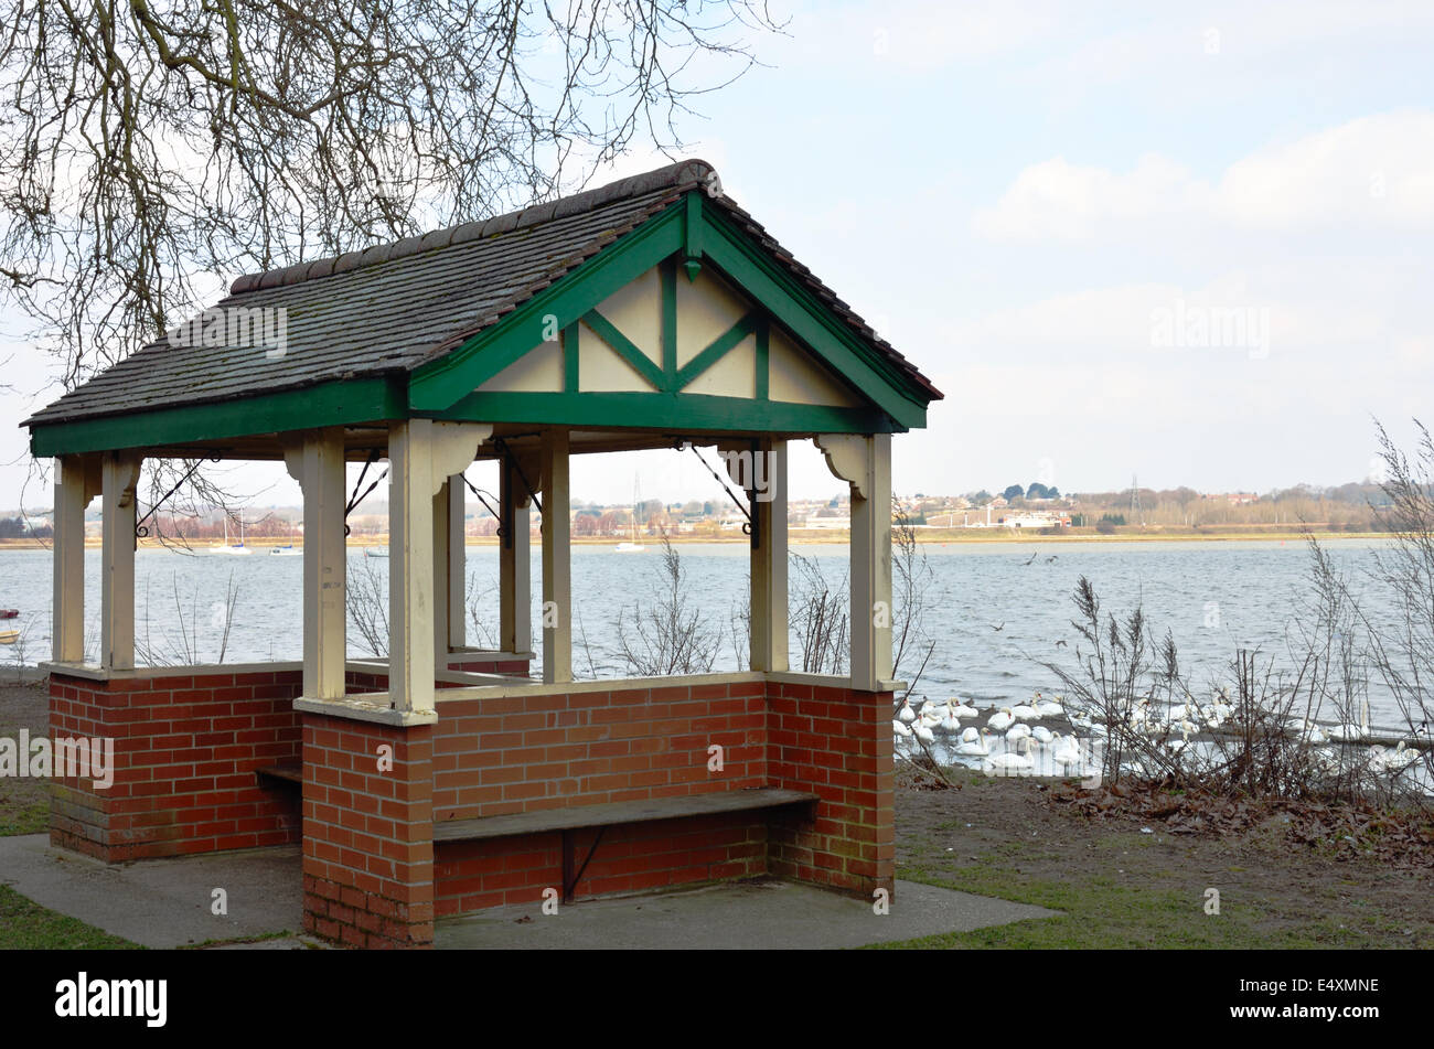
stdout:
<svg viewBox="0 0 1434 1049">
<path fill-rule="evenodd" d="M 506 815 L 482 815 L 476 820 L 447 820 L 433 824 L 433 843 L 485 841 L 505 838 L 513 834 L 562 834 L 562 899 L 572 900 L 578 880 L 598 851 L 602 833 L 608 827 L 634 823 L 655 823 L 658 820 L 681 820 L 693 815 L 714 815 L 720 813 L 746 813 L 787 805 L 810 805 L 816 794 L 779 790 L 774 787 L 751 787 L 711 794 L 684 794 L 673 798 L 648 798 L 644 801 L 614 801 L 601 805 L 578 805 L 575 808 L 543 808 L 536 813 L 511 813 Z M 598 828 L 587 858 L 581 867 L 574 856 L 574 831 L 588 827 Z"/>
</svg>

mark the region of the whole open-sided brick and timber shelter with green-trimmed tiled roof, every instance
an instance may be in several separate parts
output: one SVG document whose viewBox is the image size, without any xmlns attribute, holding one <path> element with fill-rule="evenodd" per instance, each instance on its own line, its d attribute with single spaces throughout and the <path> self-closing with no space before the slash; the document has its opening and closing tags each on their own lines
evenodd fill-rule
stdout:
<svg viewBox="0 0 1434 1049">
<path fill-rule="evenodd" d="M 255 340 L 275 318 L 282 340 Z M 115 861 L 303 841 L 305 927 L 361 946 L 423 946 L 435 916 L 548 888 L 766 873 L 891 890 L 891 439 L 941 394 L 708 165 L 244 277 L 201 321 L 26 423 L 57 463 L 52 729 L 118 741 L 112 787 L 59 784 L 56 846 Z M 793 440 L 850 486 L 843 678 L 787 662 Z M 733 467 L 750 503 L 750 669 L 576 682 L 574 457 L 684 443 L 761 464 Z M 287 464 L 304 493 L 301 665 L 135 665 L 146 457 Z M 350 661 L 346 464 L 379 457 L 389 659 Z M 500 651 L 465 636 L 462 473 L 479 459 L 500 473 Z"/>
</svg>

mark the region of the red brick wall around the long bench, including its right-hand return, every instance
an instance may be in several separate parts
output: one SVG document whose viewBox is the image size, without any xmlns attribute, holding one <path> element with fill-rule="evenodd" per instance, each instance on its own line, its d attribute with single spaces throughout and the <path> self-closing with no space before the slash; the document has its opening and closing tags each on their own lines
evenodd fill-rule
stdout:
<svg viewBox="0 0 1434 1049">
<path fill-rule="evenodd" d="M 891 694 L 736 682 L 439 704 L 433 813 L 450 818 L 743 787 L 820 797 L 800 811 L 612 827 L 576 896 L 771 873 L 869 896 L 895 878 Z M 707 771 L 721 744 L 724 772 Z M 576 864 L 595 831 L 576 834 Z M 561 835 L 439 844 L 440 916 L 561 888 Z M 611 866 L 609 866 L 611 864 Z"/>
</svg>

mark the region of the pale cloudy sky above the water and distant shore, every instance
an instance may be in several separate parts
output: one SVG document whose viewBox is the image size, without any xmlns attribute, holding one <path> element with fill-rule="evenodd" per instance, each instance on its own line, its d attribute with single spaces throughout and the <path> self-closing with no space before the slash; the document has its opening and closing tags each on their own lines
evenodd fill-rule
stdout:
<svg viewBox="0 0 1434 1049">
<path fill-rule="evenodd" d="M 1434 4 L 1150 7 L 789 6 L 767 67 L 684 126 L 945 391 L 893 444 L 898 492 L 1341 483 L 1371 473 L 1374 417 L 1408 444 L 1434 416 Z M 54 393 L 0 321 L 9 507 L 16 426 Z M 625 500 L 634 474 L 713 494 L 675 453 L 584 461 L 574 494 Z M 794 456 L 794 494 L 835 492 Z"/>
</svg>

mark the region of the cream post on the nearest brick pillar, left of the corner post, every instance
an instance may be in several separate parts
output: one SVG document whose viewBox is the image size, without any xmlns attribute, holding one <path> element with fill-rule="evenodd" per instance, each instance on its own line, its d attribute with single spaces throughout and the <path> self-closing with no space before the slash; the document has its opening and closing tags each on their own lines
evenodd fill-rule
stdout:
<svg viewBox="0 0 1434 1049">
<path fill-rule="evenodd" d="M 304 493 L 304 695 L 344 695 L 348 563 L 344 543 L 344 428 L 304 434 L 284 450 Z"/>
</svg>

